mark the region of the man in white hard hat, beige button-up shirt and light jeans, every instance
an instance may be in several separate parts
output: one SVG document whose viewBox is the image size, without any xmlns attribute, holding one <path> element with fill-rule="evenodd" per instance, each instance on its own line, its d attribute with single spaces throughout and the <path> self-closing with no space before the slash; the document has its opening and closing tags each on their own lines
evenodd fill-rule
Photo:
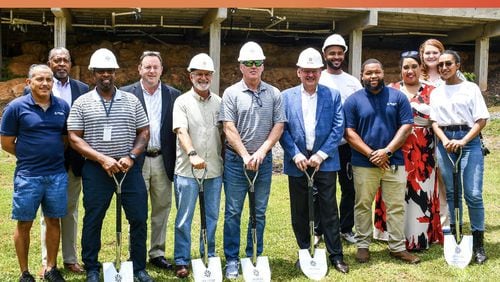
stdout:
<svg viewBox="0 0 500 282">
<path fill-rule="evenodd" d="M 215 256 L 215 230 L 222 188 L 222 124 L 217 120 L 221 98 L 210 91 L 214 63 L 207 54 L 200 53 L 191 59 L 188 71 L 193 87 L 175 101 L 172 127 L 177 133 L 174 259 L 178 278 L 189 275 L 191 261 L 191 222 L 199 192 L 191 168 L 198 171 L 196 177 L 201 177 L 204 169 L 207 171 L 203 186 L 208 257 Z M 206 251 L 200 241 L 202 257 Z"/>
</svg>

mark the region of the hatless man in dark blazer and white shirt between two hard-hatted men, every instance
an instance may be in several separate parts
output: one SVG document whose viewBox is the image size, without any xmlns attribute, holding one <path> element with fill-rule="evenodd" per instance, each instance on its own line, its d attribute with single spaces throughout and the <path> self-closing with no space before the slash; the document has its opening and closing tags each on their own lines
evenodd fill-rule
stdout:
<svg viewBox="0 0 500 282">
<path fill-rule="evenodd" d="M 160 78 L 163 60 L 160 52 L 144 51 L 139 59 L 141 79 L 120 90 L 134 94 L 141 101 L 149 119 L 149 142 L 144 154 L 138 156 L 142 176 L 151 200 L 151 232 L 149 262 L 171 270 L 165 258 L 167 223 L 172 206 L 172 182 L 175 166 L 175 134 L 172 132 L 172 111 L 181 92 Z"/>
</svg>

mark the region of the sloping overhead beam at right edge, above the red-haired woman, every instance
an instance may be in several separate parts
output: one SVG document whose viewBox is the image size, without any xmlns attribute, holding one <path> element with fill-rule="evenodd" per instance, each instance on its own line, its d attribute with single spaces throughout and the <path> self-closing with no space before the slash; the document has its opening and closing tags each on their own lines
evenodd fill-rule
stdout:
<svg viewBox="0 0 500 282">
<path fill-rule="evenodd" d="M 479 37 L 497 37 L 500 36 L 500 21 L 475 25 L 464 29 L 459 29 L 448 33 L 444 38 L 444 43 L 457 43 L 476 40 Z"/>
</svg>

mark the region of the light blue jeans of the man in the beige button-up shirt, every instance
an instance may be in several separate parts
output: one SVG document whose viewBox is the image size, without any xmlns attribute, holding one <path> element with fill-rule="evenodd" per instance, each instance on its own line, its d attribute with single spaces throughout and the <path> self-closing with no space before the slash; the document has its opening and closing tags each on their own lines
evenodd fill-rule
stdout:
<svg viewBox="0 0 500 282">
<path fill-rule="evenodd" d="M 174 186 L 177 207 L 174 260 L 176 265 L 188 265 L 191 261 L 191 222 L 198 198 L 198 183 L 194 178 L 175 175 Z M 209 257 L 215 256 L 215 231 L 219 218 L 221 187 L 222 176 L 205 179 L 203 182 Z M 204 253 L 200 230 L 200 254 L 203 256 Z"/>
</svg>

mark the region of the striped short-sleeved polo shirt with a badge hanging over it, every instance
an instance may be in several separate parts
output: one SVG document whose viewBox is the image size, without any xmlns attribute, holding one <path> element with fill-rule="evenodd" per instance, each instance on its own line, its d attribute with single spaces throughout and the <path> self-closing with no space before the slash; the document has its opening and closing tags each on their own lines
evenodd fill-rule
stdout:
<svg viewBox="0 0 500 282">
<path fill-rule="evenodd" d="M 71 108 L 68 130 L 83 130 L 83 140 L 92 149 L 112 158 L 121 158 L 132 150 L 136 129 L 147 126 L 148 118 L 136 96 L 118 89 L 113 103 L 105 102 L 104 105 L 95 89 L 80 96 Z M 109 141 L 104 141 L 106 127 L 111 127 Z"/>
</svg>

